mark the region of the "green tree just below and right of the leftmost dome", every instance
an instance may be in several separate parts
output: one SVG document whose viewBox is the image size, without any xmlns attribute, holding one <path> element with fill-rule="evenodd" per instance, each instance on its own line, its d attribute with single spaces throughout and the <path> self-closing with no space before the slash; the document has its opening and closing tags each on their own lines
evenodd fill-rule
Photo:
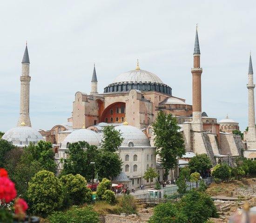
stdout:
<svg viewBox="0 0 256 223">
<path fill-rule="evenodd" d="M 36 161 L 41 169 L 55 173 L 57 165 L 54 163 L 54 156 L 52 143 L 41 140 L 36 145 L 30 143 L 23 148 L 21 163 L 30 165 Z"/>
</svg>

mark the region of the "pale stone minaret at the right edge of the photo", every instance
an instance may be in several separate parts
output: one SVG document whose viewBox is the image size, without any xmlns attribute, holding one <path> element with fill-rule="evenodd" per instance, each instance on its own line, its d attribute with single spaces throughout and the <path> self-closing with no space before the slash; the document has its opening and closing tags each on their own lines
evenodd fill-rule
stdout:
<svg viewBox="0 0 256 223">
<path fill-rule="evenodd" d="M 247 133 L 247 147 L 248 149 L 256 149 L 256 128 L 255 128 L 255 108 L 254 108 L 254 88 L 253 84 L 253 70 L 251 55 L 249 59 L 249 72 L 248 72 L 248 105 L 249 105 L 249 128 Z"/>
</svg>

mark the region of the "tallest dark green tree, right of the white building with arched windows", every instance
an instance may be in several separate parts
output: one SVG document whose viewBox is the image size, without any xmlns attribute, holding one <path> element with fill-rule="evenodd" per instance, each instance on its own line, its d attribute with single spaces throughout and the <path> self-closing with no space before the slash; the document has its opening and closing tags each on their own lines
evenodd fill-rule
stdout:
<svg viewBox="0 0 256 223">
<path fill-rule="evenodd" d="M 160 162 L 165 169 L 164 177 L 167 178 L 169 170 L 178 165 L 178 158 L 186 152 L 182 133 L 178 132 L 180 127 L 177 125 L 176 118 L 172 114 L 165 115 L 162 111 L 157 114 L 152 126 L 156 154 L 160 157 Z"/>
</svg>

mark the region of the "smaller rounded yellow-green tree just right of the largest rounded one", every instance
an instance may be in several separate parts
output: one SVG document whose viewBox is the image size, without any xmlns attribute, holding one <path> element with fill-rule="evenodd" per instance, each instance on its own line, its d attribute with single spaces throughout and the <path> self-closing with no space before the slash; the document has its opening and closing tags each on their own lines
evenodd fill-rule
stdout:
<svg viewBox="0 0 256 223">
<path fill-rule="evenodd" d="M 67 188 L 67 193 L 71 199 L 71 205 L 78 205 L 92 201 L 92 190 L 87 187 L 86 179 L 82 177 L 80 174 L 68 174 L 62 176 L 60 178 L 60 181 Z M 90 192 L 89 197 L 88 192 Z"/>
</svg>

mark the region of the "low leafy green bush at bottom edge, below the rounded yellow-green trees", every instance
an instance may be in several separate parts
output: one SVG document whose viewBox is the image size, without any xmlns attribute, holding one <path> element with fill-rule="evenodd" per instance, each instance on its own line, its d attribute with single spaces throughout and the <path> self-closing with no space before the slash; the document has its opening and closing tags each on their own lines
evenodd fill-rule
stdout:
<svg viewBox="0 0 256 223">
<path fill-rule="evenodd" d="M 73 206 L 67 212 L 55 211 L 48 220 L 50 223 L 98 223 L 99 215 L 91 207 Z"/>
</svg>

